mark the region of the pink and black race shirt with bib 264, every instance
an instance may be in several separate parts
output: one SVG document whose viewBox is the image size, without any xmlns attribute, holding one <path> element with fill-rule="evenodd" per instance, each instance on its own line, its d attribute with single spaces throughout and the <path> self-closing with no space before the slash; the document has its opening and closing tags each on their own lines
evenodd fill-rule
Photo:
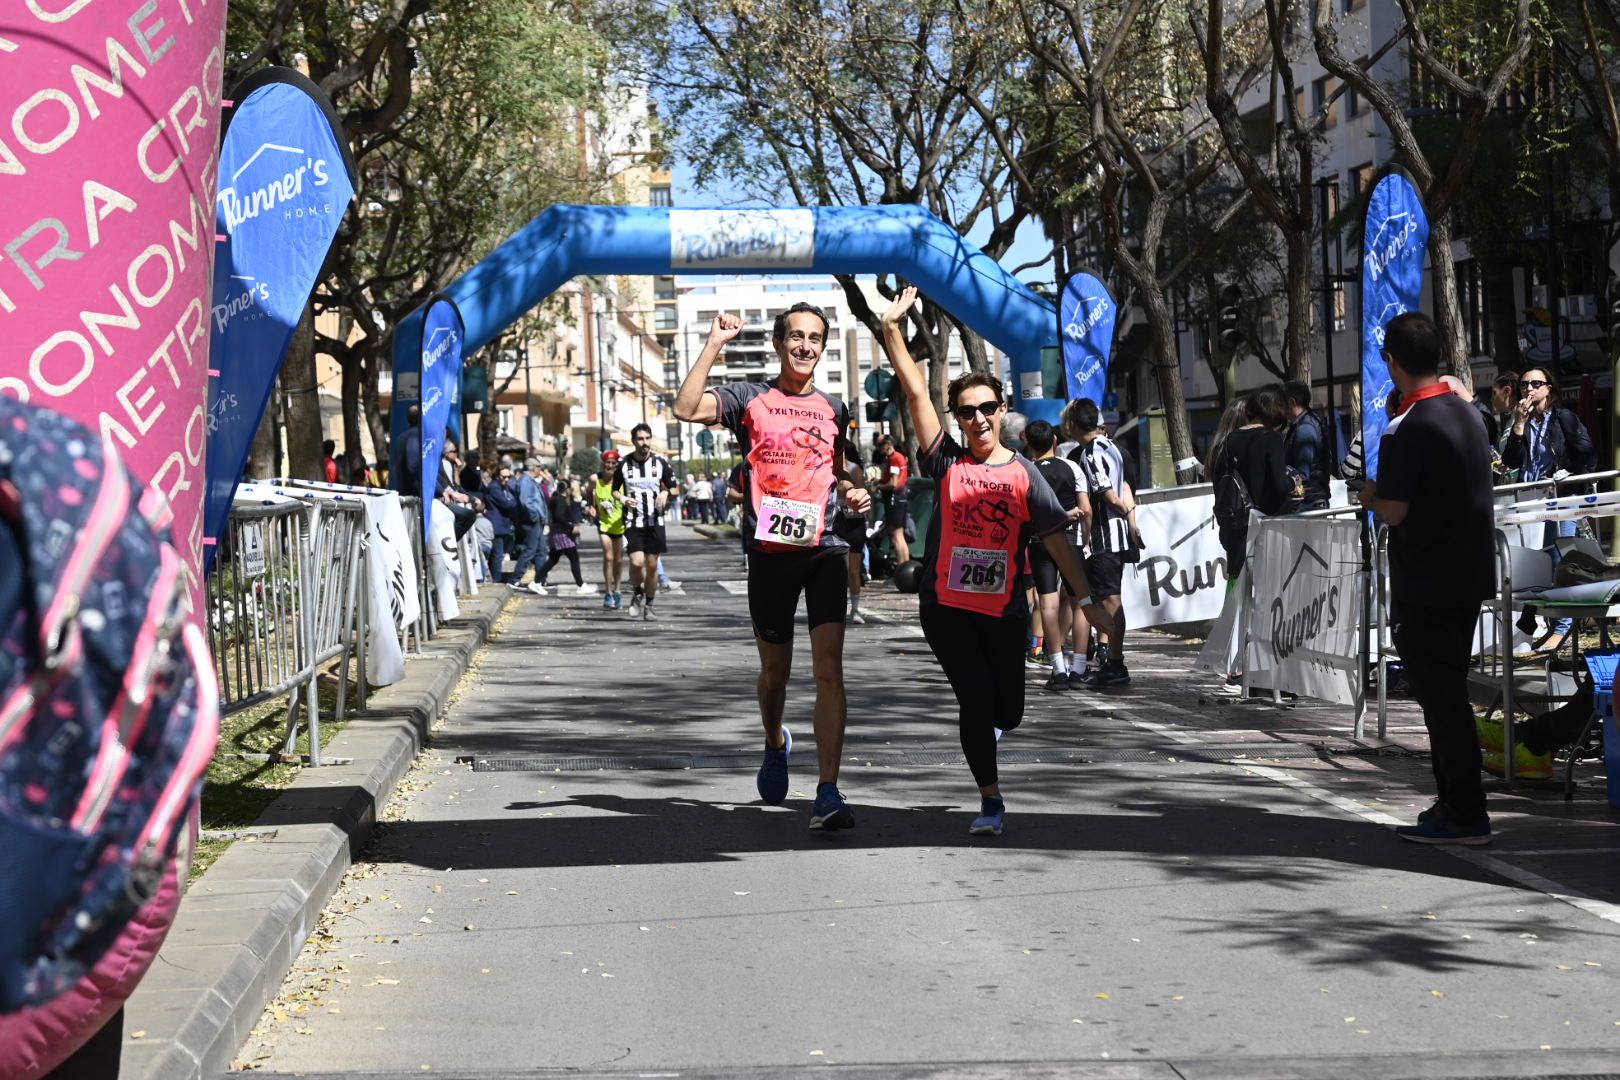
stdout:
<svg viewBox="0 0 1620 1080">
<path fill-rule="evenodd" d="M 1030 536 L 1069 521 L 1051 486 L 1029 458 L 1014 453 L 985 465 L 944 432 L 919 465 L 940 492 L 928 523 L 922 602 L 996 617 L 1024 612 L 1024 593 L 1016 588 L 1019 555 Z"/>
</svg>

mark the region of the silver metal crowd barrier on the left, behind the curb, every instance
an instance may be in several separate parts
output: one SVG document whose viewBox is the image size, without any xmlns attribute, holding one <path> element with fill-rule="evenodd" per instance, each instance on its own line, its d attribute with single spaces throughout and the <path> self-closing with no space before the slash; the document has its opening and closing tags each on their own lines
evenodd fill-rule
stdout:
<svg viewBox="0 0 1620 1080">
<path fill-rule="evenodd" d="M 282 753 L 296 750 L 300 706 L 309 717 L 309 763 L 321 764 L 316 677 L 339 659 L 334 719 L 343 719 L 348 657 L 358 659 L 364 708 L 364 508 L 274 504 L 232 510 L 207 578 L 209 635 L 220 711 L 237 712 L 287 695 Z"/>
</svg>

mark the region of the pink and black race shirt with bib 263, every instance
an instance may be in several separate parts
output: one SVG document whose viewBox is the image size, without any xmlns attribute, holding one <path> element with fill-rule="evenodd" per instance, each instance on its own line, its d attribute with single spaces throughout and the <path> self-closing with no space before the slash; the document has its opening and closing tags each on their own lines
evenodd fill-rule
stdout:
<svg viewBox="0 0 1620 1080">
<path fill-rule="evenodd" d="M 771 382 L 710 390 L 719 423 L 735 432 L 748 461 L 742 534 L 748 551 L 847 547 L 831 529 L 833 461 L 844 453 L 849 410 L 829 393 L 784 393 Z"/>
</svg>

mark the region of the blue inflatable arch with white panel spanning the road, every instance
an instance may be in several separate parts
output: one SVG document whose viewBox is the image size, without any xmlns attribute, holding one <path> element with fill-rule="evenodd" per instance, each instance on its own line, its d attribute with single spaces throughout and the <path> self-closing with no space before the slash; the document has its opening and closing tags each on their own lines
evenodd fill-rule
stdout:
<svg viewBox="0 0 1620 1080">
<path fill-rule="evenodd" d="M 580 274 L 894 274 L 1008 355 L 1014 408 L 1056 421 L 1042 350 L 1058 311 L 954 228 L 917 206 L 687 209 L 554 206 L 457 279 L 444 295 L 467 325 L 463 355 Z M 423 309 L 394 334 L 392 426 L 403 427 L 421 369 Z"/>
</svg>

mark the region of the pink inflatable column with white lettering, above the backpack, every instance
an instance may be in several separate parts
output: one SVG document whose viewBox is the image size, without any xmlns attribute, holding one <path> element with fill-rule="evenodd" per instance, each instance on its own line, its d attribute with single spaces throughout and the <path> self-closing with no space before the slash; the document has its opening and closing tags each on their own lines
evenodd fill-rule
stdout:
<svg viewBox="0 0 1620 1080">
<path fill-rule="evenodd" d="M 202 563 L 225 0 L 0 2 L 0 393 L 112 439 Z"/>
</svg>

